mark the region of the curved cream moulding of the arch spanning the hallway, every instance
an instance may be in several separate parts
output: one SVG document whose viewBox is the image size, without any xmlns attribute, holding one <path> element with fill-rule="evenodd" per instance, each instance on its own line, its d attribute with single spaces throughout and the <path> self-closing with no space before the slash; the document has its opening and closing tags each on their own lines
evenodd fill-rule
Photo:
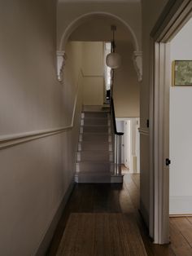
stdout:
<svg viewBox="0 0 192 256">
<path fill-rule="evenodd" d="M 67 29 L 65 29 L 63 31 L 63 35 L 62 35 L 62 37 L 60 39 L 60 42 L 59 42 L 59 51 L 63 51 L 64 50 L 65 45 L 68 42 L 68 38 L 70 37 L 70 35 L 72 34 L 72 32 L 75 29 L 77 29 L 86 20 L 89 20 L 89 18 L 92 18 L 92 17 L 97 16 L 97 15 L 103 15 L 103 16 L 106 16 L 106 17 L 111 17 L 111 18 L 114 18 L 114 20 L 118 20 L 122 24 L 124 24 L 124 26 L 129 30 L 129 33 L 131 33 L 131 35 L 132 35 L 134 50 L 135 51 L 140 51 L 139 44 L 137 42 L 137 37 L 136 37 L 135 33 L 133 32 L 133 29 L 131 28 L 131 26 L 127 22 L 122 20 L 119 16 L 111 14 L 109 12 L 105 12 L 105 11 L 92 11 L 92 12 L 86 13 L 84 15 L 80 15 L 78 18 L 73 20 L 68 25 Z"/>
</svg>

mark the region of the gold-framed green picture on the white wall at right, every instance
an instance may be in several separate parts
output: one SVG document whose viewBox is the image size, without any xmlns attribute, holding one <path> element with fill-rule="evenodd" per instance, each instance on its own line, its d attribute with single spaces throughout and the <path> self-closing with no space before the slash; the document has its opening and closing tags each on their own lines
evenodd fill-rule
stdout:
<svg viewBox="0 0 192 256">
<path fill-rule="evenodd" d="M 174 60 L 172 86 L 192 86 L 192 60 Z"/>
</svg>

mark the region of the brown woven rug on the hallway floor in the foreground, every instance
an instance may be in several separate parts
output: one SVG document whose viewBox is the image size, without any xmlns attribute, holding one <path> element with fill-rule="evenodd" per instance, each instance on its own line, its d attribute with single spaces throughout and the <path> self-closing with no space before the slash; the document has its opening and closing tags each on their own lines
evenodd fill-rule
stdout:
<svg viewBox="0 0 192 256">
<path fill-rule="evenodd" d="M 137 223 L 126 214 L 71 214 L 58 256 L 147 256 Z"/>
</svg>

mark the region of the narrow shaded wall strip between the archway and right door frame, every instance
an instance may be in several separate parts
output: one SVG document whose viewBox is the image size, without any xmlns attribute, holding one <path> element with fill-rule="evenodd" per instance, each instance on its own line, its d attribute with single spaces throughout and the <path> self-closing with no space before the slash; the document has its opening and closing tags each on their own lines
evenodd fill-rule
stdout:
<svg viewBox="0 0 192 256">
<path fill-rule="evenodd" d="M 142 0 L 142 62 L 143 76 L 140 90 L 140 148 L 141 148 L 141 188 L 140 209 L 145 219 L 146 225 L 149 226 L 150 214 L 150 137 L 149 129 L 146 127 L 146 120 L 149 119 L 150 111 L 150 33 L 155 22 L 158 20 L 160 13 L 168 0 Z"/>
</svg>

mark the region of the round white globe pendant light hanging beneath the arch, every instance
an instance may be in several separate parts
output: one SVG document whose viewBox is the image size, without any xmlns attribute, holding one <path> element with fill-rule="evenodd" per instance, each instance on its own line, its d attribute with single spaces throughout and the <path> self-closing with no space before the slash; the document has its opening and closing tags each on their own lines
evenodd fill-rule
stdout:
<svg viewBox="0 0 192 256">
<path fill-rule="evenodd" d="M 109 68 L 119 68 L 121 63 L 121 58 L 118 53 L 115 52 L 115 31 L 116 25 L 111 25 L 111 31 L 113 33 L 113 40 L 111 42 L 111 53 L 106 57 L 106 64 Z"/>
</svg>

